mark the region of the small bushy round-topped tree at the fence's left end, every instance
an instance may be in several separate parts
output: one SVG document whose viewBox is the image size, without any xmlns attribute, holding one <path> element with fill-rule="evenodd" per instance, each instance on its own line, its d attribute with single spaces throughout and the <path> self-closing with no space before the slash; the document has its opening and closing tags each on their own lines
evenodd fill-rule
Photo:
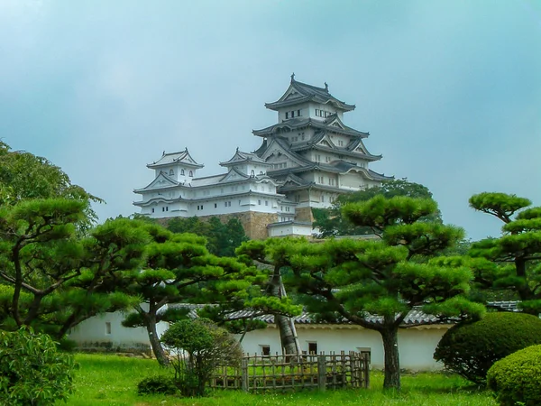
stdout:
<svg viewBox="0 0 541 406">
<path fill-rule="evenodd" d="M 238 365 L 243 356 L 227 330 L 204 318 L 172 324 L 161 341 L 170 348 L 175 382 L 184 396 L 203 396 L 215 368 Z"/>
</svg>

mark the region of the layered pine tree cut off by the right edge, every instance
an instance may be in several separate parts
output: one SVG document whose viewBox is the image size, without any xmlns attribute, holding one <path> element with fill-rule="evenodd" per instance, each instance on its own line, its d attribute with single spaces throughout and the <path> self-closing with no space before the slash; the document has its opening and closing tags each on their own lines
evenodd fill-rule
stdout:
<svg viewBox="0 0 541 406">
<path fill-rule="evenodd" d="M 470 206 L 503 222 L 502 235 L 472 244 L 475 280 L 485 289 L 514 291 L 524 311 L 541 312 L 541 207 L 527 198 L 480 193 Z M 491 261 L 486 263 L 482 259 Z"/>
</svg>

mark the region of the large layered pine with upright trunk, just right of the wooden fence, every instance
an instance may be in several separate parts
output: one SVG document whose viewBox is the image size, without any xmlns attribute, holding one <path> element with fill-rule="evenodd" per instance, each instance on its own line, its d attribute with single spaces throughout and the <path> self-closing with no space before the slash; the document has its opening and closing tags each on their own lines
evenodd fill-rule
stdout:
<svg viewBox="0 0 541 406">
<path fill-rule="evenodd" d="M 437 214 L 431 199 L 376 196 L 344 206 L 344 217 L 368 226 L 376 240 L 326 240 L 290 245 L 276 253 L 291 266 L 290 281 L 308 311 L 318 318 L 347 320 L 381 334 L 385 388 L 400 388 L 398 331 L 412 309 L 439 320 L 479 316 L 480 304 L 466 300 L 472 272 L 441 264 L 440 252 L 463 238 L 463 230 L 421 221 Z M 439 263 L 436 263 L 436 260 Z M 434 321 L 433 321 L 434 322 Z M 414 322 L 408 327 L 426 324 Z"/>
</svg>

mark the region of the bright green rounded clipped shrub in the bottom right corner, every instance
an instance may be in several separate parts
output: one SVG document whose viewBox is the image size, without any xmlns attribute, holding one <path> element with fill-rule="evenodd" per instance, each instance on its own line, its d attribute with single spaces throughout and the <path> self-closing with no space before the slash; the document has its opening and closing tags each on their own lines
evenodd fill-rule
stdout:
<svg viewBox="0 0 541 406">
<path fill-rule="evenodd" d="M 529 346 L 493 364 L 487 383 L 501 406 L 541 404 L 541 346 Z"/>
</svg>

